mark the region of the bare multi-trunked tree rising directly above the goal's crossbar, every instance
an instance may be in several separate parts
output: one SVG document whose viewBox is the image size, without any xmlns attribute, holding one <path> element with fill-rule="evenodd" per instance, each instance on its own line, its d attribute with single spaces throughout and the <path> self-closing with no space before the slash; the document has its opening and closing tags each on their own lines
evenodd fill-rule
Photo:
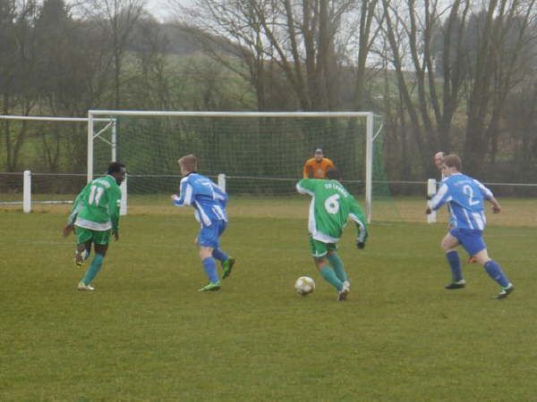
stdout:
<svg viewBox="0 0 537 402">
<path fill-rule="evenodd" d="M 375 2 L 372 2 L 375 3 Z M 266 109 L 269 80 L 283 75 L 303 110 L 337 109 L 342 63 L 350 60 L 340 46 L 342 22 L 359 11 L 353 0 L 202 0 L 183 14 L 183 24 L 216 37 L 229 38 L 233 46 L 222 52 L 213 41 L 211 54 L 251 82 L 258 108 Z M 370 32 L 369 29 L 364 29 Z M 221 42 L 220 42 L 221 44 Z M 238 56 L 241 69 L 229 54 Z M 362 55 L 363 63 L 365 58 Z M 274 107 L 272 105 L 272 107 Z"/>
</svg>

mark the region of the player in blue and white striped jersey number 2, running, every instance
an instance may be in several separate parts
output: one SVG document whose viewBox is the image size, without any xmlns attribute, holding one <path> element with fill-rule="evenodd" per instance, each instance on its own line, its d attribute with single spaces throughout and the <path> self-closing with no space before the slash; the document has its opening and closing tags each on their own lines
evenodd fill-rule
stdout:
<svg viewBox="0 0 537 402">
<path fill-rule="evenodd" d="M 425 211 L 430 214 L 442 205 L 449 205 L 453 227 L 442 239 L 441 247 L 446 252 L 447 263 L 451 268 L 453 281 L 446 289 L 462 289 L 466 281 L 463 278 L 461 261 L 456 247 L 462 245 L 468 254 L 482 264 L 492 280 L 499 283 L 501 290 L 497 298 L 507 297 L 515 287 L 507 280 L 499 264 L 490 259 L 487 247 L 482 238 L 486 218 L 483 200 L 492 205 L 492 212 L 499 214 L 501 207 L 489 188 L 481 182 L 461 173 L 462 162 L 458 155 L 446 155 L 442 164 L 442 181 L 439 191 L 430 200 L 430 206 Z"/>
</svg>

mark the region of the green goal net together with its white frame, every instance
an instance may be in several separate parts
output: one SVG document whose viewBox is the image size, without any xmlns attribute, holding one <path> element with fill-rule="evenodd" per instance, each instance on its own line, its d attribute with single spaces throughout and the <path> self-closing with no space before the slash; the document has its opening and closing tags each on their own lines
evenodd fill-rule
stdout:
<svg viewBox="0 0 537 402">
<path fill-rule="evenodd" d="M 96 118 L 116 121 L 129 207 L 168 203 L 178 191 L 177 160 L 188 154 L 233 197 L 292 203 L 299 198 L 294 185 L 303 177 L 303 163 L 321 148 L 342 172 L 345 187 L 363 200 L 370 219 L 373 201 L 379 214 L 390 209 L 382 206 L 389 191 L 381 122 L 373 113 L 90 111 L 89 179 L 109 162 L 106 144 L 92 139 Z"/>
</svg>

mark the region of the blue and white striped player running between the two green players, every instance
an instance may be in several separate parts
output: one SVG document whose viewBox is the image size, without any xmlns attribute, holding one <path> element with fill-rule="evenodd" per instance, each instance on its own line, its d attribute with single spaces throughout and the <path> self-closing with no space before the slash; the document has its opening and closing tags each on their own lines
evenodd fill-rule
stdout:
<svg viewBox="0 0 537 402">
<path fill-rule="evenodd" d="M 209 277 L 209 283 L 200 292 L 219 290 L 220 280 L 215 258 L 222 264 L 222 279 L 232 271 L 234 258 L 226 255 L 220 248 L 220 236 L 228 225 L 226 214 L 227 194 L 208 177 L 196 172 L 198 158 L 194 155 L 183 156 L 179 161 L 183 179 L 179 196 L 173 195 L 173 204 L 192 205 L 194 216 L 200 222 L 200 234 L 196 238 L 201 264 Z"/>
</svg>

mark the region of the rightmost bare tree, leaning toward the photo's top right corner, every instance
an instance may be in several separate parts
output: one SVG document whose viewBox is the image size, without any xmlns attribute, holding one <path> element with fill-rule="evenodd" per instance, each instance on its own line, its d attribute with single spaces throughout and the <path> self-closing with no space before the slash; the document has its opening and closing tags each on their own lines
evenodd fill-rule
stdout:
<svg viewBox="0 0 537 402">
<path fill-rule="evenodd" d="M 477 15 L 478 51 L 468 96 L 465 160 L 479 173 L 498 152 L 499 123 L 508 94 L 521 80 L 524 54 L 535 42 L 535 0 L 491 0 Z M 481 18 L 480 18 L 481 17 Z M 534 28 L 534 27 L 533 27 Z"/>
</svg>

